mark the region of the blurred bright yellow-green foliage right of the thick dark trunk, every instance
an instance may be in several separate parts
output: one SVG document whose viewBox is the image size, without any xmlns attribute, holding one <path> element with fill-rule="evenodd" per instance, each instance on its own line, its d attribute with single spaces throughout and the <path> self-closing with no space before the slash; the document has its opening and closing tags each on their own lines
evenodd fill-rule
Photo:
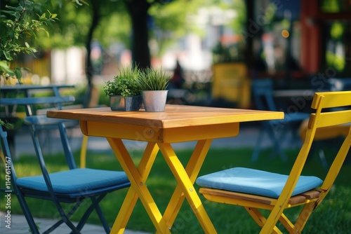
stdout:
<svg viewBox="0 0 351 234">
<path fill-rule="evenodd" d="M 199 19 L 197 14 L 200 11 L 211 9 L 215 6 L 223 11 L 232 10 L 237 17 L 227 22 L 226 27 L 232 28 L 233 32 L 241 32 L 246 21 L 246 6 L 243 0 L 222 1 L 222 0 L 175 0 L 166 5 L 154 5 L 150 8 L 154 29 L 150 39 L 157 41 L 157 54 L 162 55 L 173 43 L 183 38 L 187 33 L 192 32 L 204 38 L 206 35 L 206 24 L 208 19 Z M 197 25 L 194 21 L 200 20 L 203 25 Z"/>
</svg>

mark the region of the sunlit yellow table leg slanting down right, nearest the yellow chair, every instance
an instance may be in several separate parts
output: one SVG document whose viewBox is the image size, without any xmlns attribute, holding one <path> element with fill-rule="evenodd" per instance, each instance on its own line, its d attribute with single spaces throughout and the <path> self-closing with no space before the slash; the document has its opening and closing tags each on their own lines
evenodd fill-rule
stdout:
<svg viewBox="0 0 351 234">
<path fill-rule="evenodd" d="M 184 193 L 185 197 L 187 198 L 187 201 L 189 202 L 190 207 L 192 207 L 192 210 L 195 216 L 197 216 L 197 219 L 199 220 L 199 223 L 201 224 L 201 227 L 204 229 L 205 233 L 211 233 L 211 234 L 217 233 L 216 229 L 214 228 L 211 220 L 209 219 L 204 209 L 204 206 L 201 203 L 199 195 L 197 195 L 197 191 L 195 191 L 195 188 L 193 186 L 194 177 L 197 176 L 197 170 L 200 169 L 202 164 L 201 161 L 203 160 L 199 158 L 200 163 L 193 162 L 192 160 L 192 163 L 194 163 L 194 165 L 192 166 L 191 163 L 188 163 L 188 165 L 189 165 L 189 168 L 193 167 L 194 169 L 193 171 L 187 172 L 184 169 L 182 163 L 180 163 L 180 160 L 176 156 L 176 153 L 173 151 L 171 144 L 158 143 L 158 145 L 162 155 L 166 160 L 166 163 L 168 164 L 168 167 L 171 169 L 174 177 L 176 177 L 178 186 L 180 186 L 181 191 Z M 188 174 L 190 174 L 190 177 L 188 176 Z M 190 178 L 192 178 L 193 181 Z M 176 192 L 180 193 L 178 190 Z M 173 199 L 172 202 L 178 202 L 178 201 Z M 173 207 L 173 204 L 169 204 L 168 206 Z M 176 205 L 174 207 L 178 207 L 178 206 Z"/>
</svg>

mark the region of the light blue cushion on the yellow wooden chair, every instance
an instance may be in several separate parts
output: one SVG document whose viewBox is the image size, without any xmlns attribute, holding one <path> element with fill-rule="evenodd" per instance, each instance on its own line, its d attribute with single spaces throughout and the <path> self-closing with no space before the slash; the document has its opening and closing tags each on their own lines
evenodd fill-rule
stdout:
<svg viewBox="0 0 351 234">
<path fill-rule="evenodd" d="M 196 183 L 207 188 L 278 198 L 287 179 L 285 174 L 234 167 L 201 176 Z M 318 177 L 300 176 L 292 195 L 317 188 L 322 182 Z"/>
</svg>

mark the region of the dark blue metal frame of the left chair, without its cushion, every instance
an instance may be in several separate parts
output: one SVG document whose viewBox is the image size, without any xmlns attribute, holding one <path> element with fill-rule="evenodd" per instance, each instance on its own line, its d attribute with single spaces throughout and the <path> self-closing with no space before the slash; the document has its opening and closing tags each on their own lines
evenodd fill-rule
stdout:
<svg viewBox="0 0 351 234">
<path fill-rule="evenodd" d="M 53 226 L 48 228 L 44 233 L 51 233 L 55 228 L 60 226 L 62 223 L 65 223 L 69 228 L 71 228 L 72 233 L 80 233 L 84 224 L 88 220 L 90 214 L 95 210 L 98 213 L 102 226 L 105 229 L 106 233 L 110 233 L 110 226 L 108 225 L 105 216 L 102 214 L 100 206 L 98 203 L 102 200 L 102 198 L 112 191 L 117 191 L 121 188 L 126 188 L 130 186 L 129 181 L 122 181 L 120 183 L 115 183 L 113 185 L 105 186 L 104 184 L 100 185 L 100 188 L 91 188 L 86 189 L 85 191 L 81 191 L 79 193 L 57 193 L 53 188 L 53 182 L 51 181 L 51 173 L 46 169 L 46 164 L 44 160 L 44 155 L 41 152 L 41 146 L 38 139 L 38 130 L 41 128 L 45 128 L 46 126 L 51 128 L 57 128 L 60 132 L 60 138 L 62 141 L 62 147 L 64 150 L 65 158 L 67 161 L 67 165 L 69 167 L 69 171 L 71 170 L 81 170 L 77 169 L 77 165 L 74 161 L 72 150 L 69 146 L 69 139 L 67 137 L 67 132 L 65 129 L 65 121 L 62 119 L 53 119 L 47 118 L 46 116 L 33 116 L 32 115 L 32 105 L 34 104 L 54 104 L 58 106 L 58 109 L 61 108 L 62 104 L 65 102 L 72 102 L 74 97 L 25 97 L 25 98 L 2 98 L 1 105 L 23 105 L 25 106 L 25 111 L 27 113 L 27 117 L 25 117 L 25 123 L 29 124 L 30 133 L 32 136 L 32 141 L 34 144 L 34 149 L 37 153 L 37 159 L 41 168 L 42 177 L 47 186 L 48 191 L 39 191 L 35 189 L 23 188 L 18 186 L 17 180 L 18 177 L 15 172 L 15 165 L 13 163 L 13 158 L 11 157 L 11 152 L 8 146 L 7 141 L 7 132 L 4 130 L 3 126 L 0 128 L 1 135 L 1 148 L 4 153 L 4 160 L 7 166 L 11 167 L 11 186 L 13 186 L 13 190 L 9 188 L 1 188 L 1 192 L 4 193 L 15 193 L 18 198 L 18 202 L 20 203 L 20 207 L 22 208 L 23 214 L 25 214 L 25 218 L 27 219 L 27 223 L 29 228 L 32 230 L 32 233 L 39 233 L 36 223 L 34 222 L 34 218 L 29 210 L 27 202 L 25 198 L 37 198 L 43 200 L 51 200 L 55 207 L 58 209 L 58 213 L 60 214 L 61 219 L 57 221 Z M 82 169 L 84 170 L 84 169 Z M 104 170 L 99 170 L 102 172 Z M 74 178 L 72 178 L 74 179 Z M 89 198 L 91 200 L 91 205 L 86 209 L 86 212 L 81 217 L 77 226 L 69 220 L 69 218 L 74 214 L 77 210 L 81 202 Z M 69 212 L 65 212 L 62 208 L 61 202 L 65 203 L 75 203 L 72 209 Z"/>
</svg>

